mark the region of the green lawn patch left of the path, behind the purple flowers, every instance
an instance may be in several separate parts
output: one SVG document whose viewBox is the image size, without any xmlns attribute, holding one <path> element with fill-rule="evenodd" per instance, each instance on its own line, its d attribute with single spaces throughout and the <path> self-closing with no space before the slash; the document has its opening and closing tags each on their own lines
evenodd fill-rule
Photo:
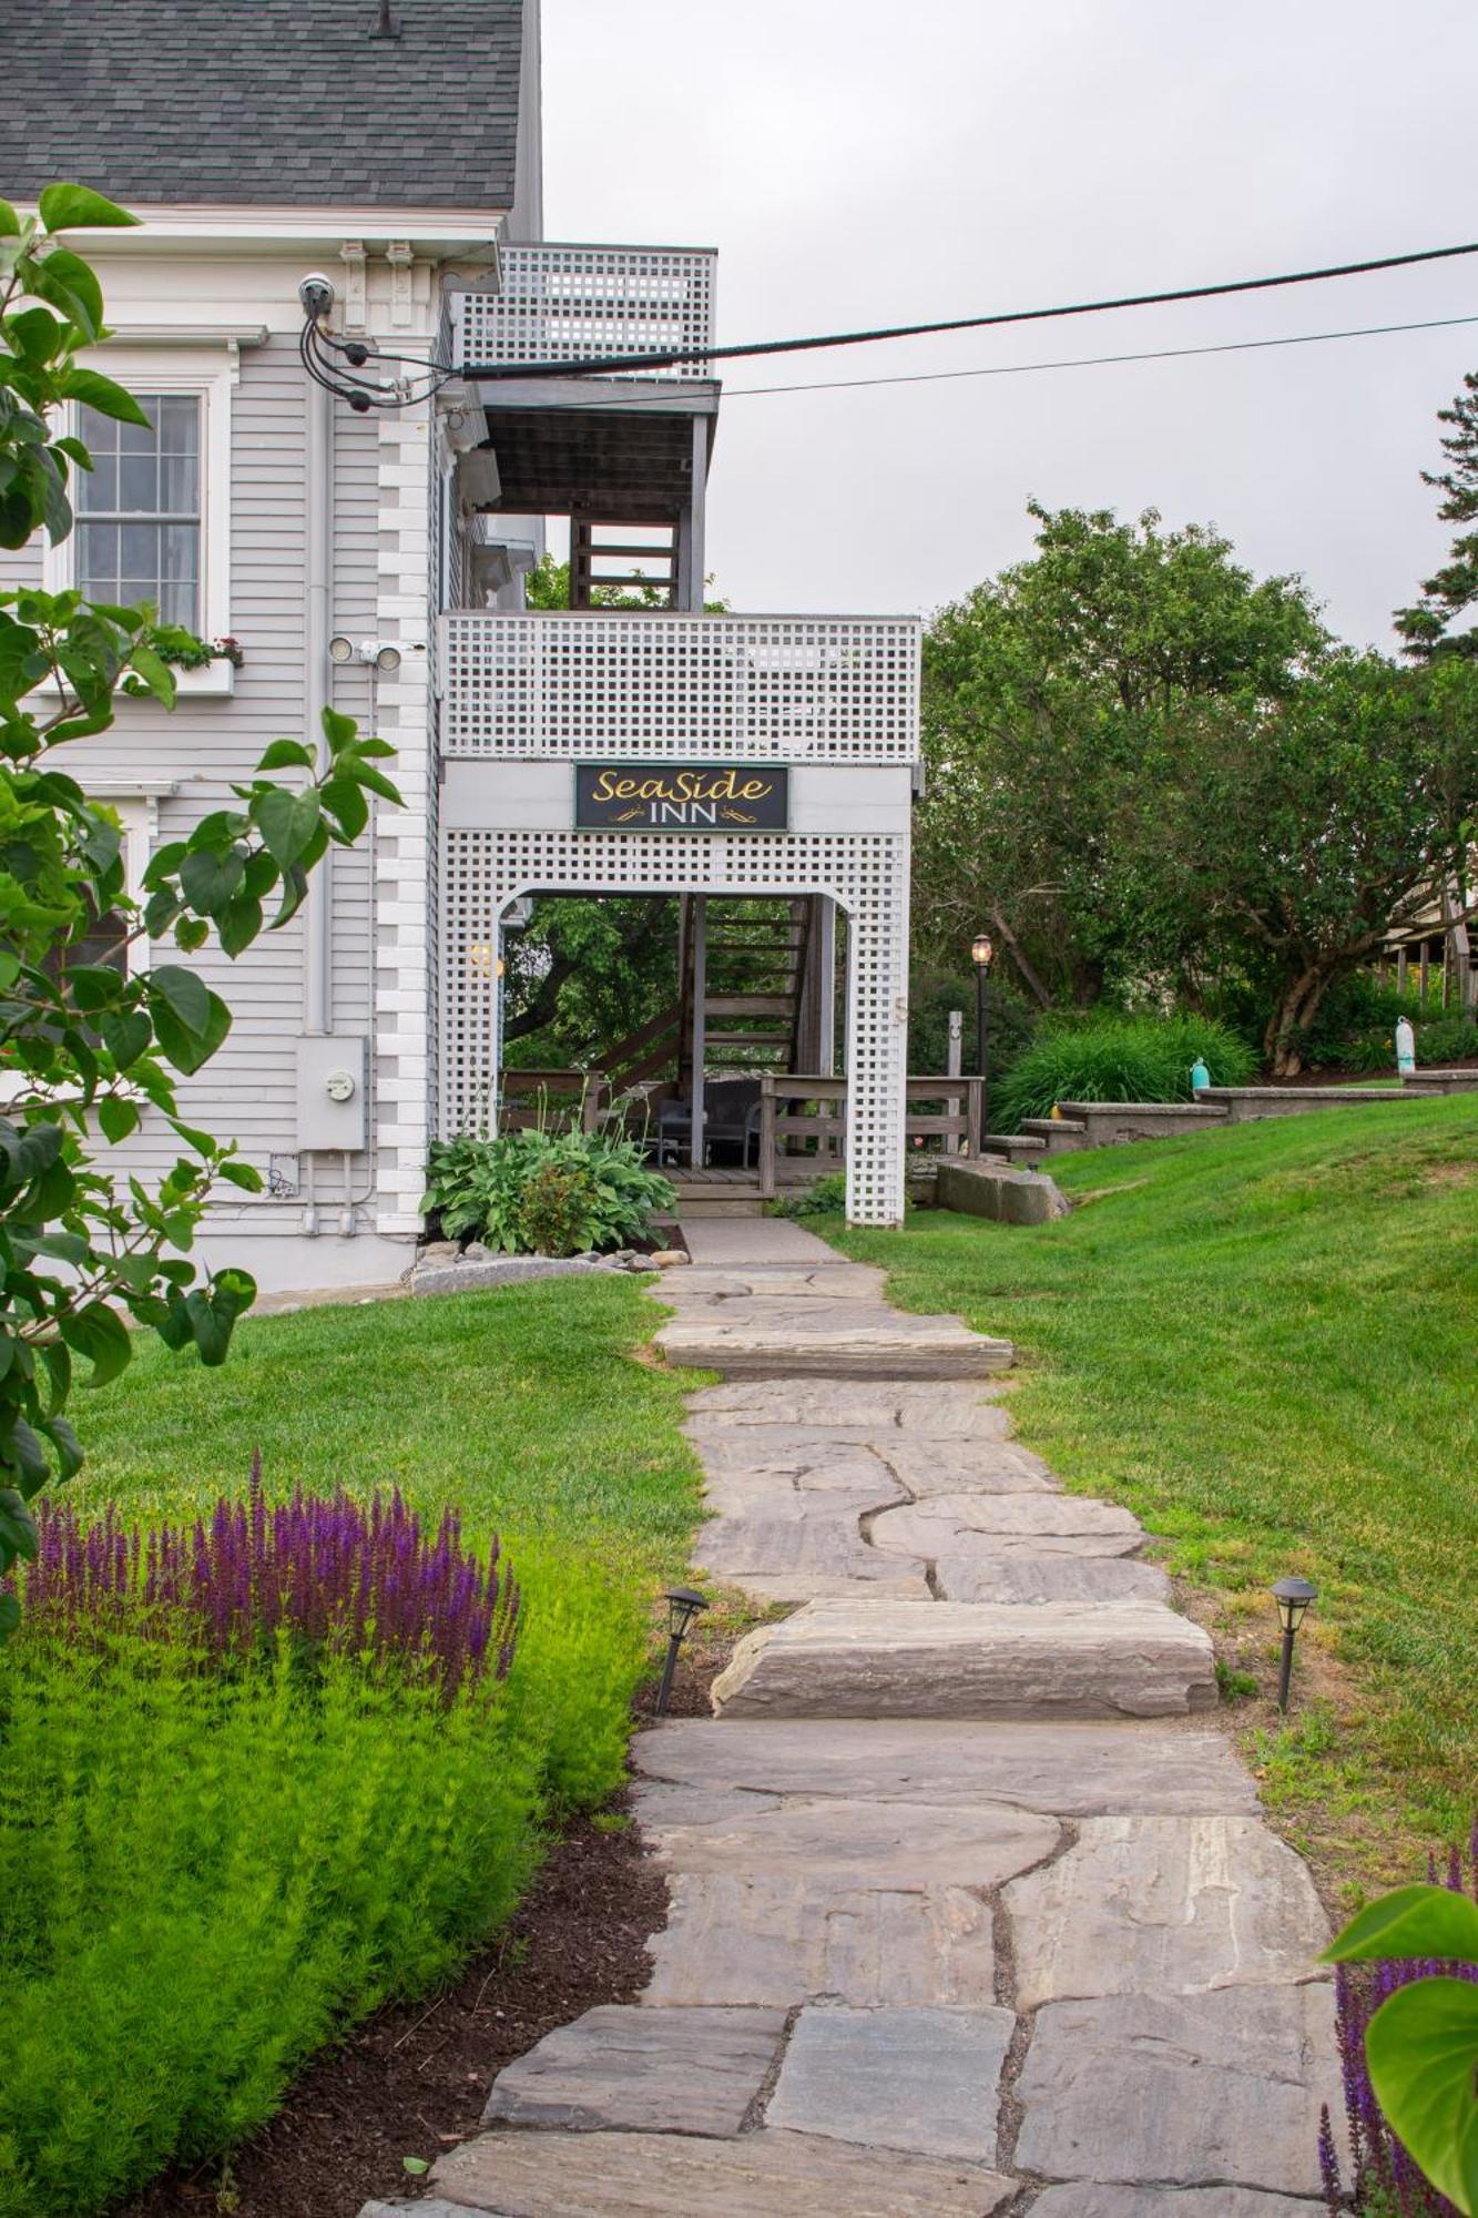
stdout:
<svg viewBox="0 0 1478 2218">
<path fill-rule="evenodd" d="M 122 1380 L 78 1404 L 71 1493 L 193 1515 L 240 1493 L 260 1448 L 269 1493 L 402 1486 L 457 1504 L 470 1539 L 568 1544 L 657 1590 L 699 1499 L 684 1386 L 630 1360 L 659 1322 L 613 1275 L 246 1317 L 220 1371 L 140 1335 Z"/>
</svg>

